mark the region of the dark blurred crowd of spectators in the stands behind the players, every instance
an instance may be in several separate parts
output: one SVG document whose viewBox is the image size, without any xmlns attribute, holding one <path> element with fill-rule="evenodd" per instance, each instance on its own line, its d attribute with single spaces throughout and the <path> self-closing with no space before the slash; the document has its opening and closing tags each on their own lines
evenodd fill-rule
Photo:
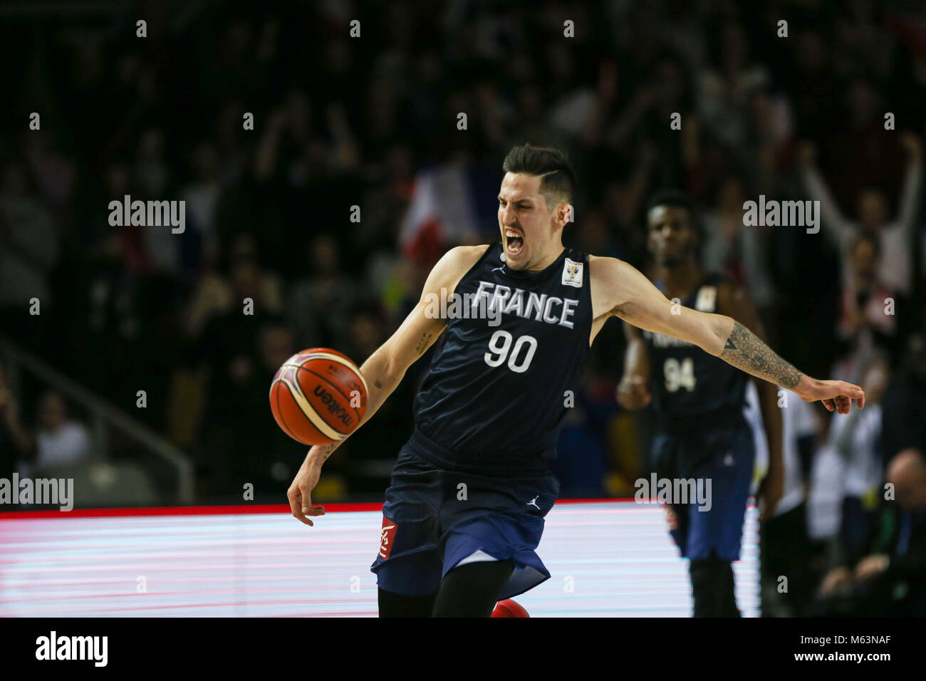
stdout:
<svg viewBox="0 0 926 681">
<path fill-rule="evenodd" d="M 485 243 L 502 160 L 531 142 L 578 171 L 570 246 L 649 271 L 646 198 L 683 189 L 702 207 L 707 266 L 746 287 L 770 345 L 866 386 L 880 409 L 808 408 L 792 434 L 793 508 L 807 550 L 824 542 L 820 565 L 846 571 L 820 572 L 829 592 L 897 549 L 877 532 L 880 490 L 888 477 L 898 494 L 922 484 L 915 456 L 892 461 L 926 448 L 911 405 L 926 395 L 921 3 L 183 7 L 0 29 L 19 65 L 0 112 L 0 332 L 190 452 L 197 500 L 240 501 L 246 483 L 284 500 L 305 448 L 270 414 L 278 366 L 315 346 L 366 359 L 435 258 L 401 246 L 419 173 L 465 169 L 476 198 L 471 229 L 440 249 Z M 41 130 L 28 129 L 33 111 Z M 185 200 L 185 232 L 110 226 L 107 205 L 124 195 Z M 759 195 L 819 200 L 820 233 L 744 226 Z M 39 316 L 25 311 L 33 298 Z M 646 468 L 644 429 L 614 400 L 622 349 L 610 322 L 563 430 L 564 496 L 630 496 Z M 382 498 L 427 359 L 326 464 L 320 500 Z M 79 406 L 54 387 L 0 385 L 0 473 L 93 457 L 87 423 L 68 415 Z M 922 489 L 905 494 L 921 508 Z"/>
</svg>

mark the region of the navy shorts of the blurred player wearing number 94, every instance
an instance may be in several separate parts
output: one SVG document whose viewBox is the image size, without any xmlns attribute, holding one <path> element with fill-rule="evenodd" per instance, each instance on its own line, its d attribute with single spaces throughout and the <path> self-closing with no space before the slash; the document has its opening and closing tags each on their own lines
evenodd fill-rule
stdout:
<svg viewBox="0 0 926 681">
<path fill-rule="evenodd" d="M 682 557 L 697 560 L 713 553 L 724 561 L 739 560 L 755 458 L 752 430 L 739 419 L 720 428 L 656 435 L 652 460 L 660 479 L 694 479 L 706 491 L 710 481 L 709 508 L 690 498 L 672 504 L 678 524 L 669 534 Z"/>
</svg>

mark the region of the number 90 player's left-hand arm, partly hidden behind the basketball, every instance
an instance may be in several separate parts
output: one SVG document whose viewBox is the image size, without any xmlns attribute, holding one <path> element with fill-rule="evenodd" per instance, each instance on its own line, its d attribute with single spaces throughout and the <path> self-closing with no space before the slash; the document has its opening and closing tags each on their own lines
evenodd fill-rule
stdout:
<svg viewBox="0 0 926 681">
<path fill-rule="evenodd" d="M 429 316 L 427 313 L 429 309 L 433 309 L 433 306 L 428 305 L 431 296 L 449 296 L 453 293 L 457 282 L 484 251 L 485 246 L 457 246 L 447 251 L 428 275 L 418 305 L 408 313 L 405 321 L 389 340 L 377 348 L 360 367 L 360 373 L 367 381 L 369 393 L 366 413 L 357 428 L 362 427 L 380 409 L 386 397 L 392 395 L 402 381 L 408 368 L 444 331 L 446 320 Z M 312 505 L 311 491 L 319 482 L 321 465 L 343 442 L 344 440 L 341 440 L 331 445 L 309 449 L 306 460 L 286 492 L 294 517 L 302 523 L 311 525 L 312 521 L 306 516 L 324 513 L 321 506 Z"/>
</svg>

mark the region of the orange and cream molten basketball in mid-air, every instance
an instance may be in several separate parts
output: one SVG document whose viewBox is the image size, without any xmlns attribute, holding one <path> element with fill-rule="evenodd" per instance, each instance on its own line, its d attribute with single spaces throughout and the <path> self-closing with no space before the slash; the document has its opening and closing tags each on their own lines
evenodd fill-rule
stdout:
<svg viewBox="0 0 926 681">
<path fill-rule="evenodd" d="M 270 410 L 283 433 L 304 445 L 340 442 L 367 410 L 367 382 L 337 350 L 312 347 L 287 359 L 270 384 Z"/>
</svg>

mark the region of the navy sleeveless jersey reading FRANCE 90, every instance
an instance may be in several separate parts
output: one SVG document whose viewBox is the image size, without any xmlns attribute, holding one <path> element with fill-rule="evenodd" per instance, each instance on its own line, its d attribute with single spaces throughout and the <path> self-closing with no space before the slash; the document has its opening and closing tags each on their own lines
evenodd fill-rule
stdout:
<svg viewBox="0 0 926 681">
<path fill-rule="evenodd" d="M 544 271 L 515 271 L 496 242 L 453 297 L 415 399 L 412 442 L 450 465 L 545 466 L 590 355 L 588 255 L 565 248 Z"/>
</svg>

